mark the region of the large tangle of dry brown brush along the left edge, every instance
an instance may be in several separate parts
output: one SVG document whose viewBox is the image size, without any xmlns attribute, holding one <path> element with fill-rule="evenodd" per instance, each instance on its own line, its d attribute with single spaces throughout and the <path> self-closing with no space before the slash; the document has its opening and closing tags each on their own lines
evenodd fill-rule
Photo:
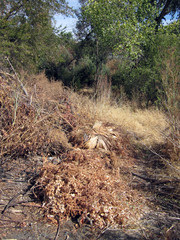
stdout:
<svg viewBox="0 0 180 240">
<path fill-rule="evenodd" d="M 13 75 L 1 73 L 0 77 L 0 155 L 24 156 L 37 153 L 61 153 L 71 146 L 64 129 L 71 128 L 74 119 L 70 104 L 61 104 L 64 95 L 56 87 L 54 99 L 45 100 L 40 87 L 27 88 L 29 96 L 23 94 Z M 43 77 L 41 76 L 43 79 Z M 48 80 L 44 77 L 44 82 Z M 59 85 L 60 86 L 60 85 Z M 39 94 L 41 94 L 43 97 Z M 60 93 L 61 93 L 60 92 Z M 52 94 L 52 91 L 51 91 Z M 58 104 L 56 104 L 57 100 Z M 62 107 L 61 107 L 62 106 Z M 70 121 L 72 122 L 70 123 Z"/>
</svg>

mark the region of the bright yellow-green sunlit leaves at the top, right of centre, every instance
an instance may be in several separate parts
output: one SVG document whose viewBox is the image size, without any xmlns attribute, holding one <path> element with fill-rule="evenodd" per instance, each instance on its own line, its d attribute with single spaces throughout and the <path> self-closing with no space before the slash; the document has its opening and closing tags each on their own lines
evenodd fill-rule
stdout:
<svg viewBox="0 0 180 240">
<path fill-rule="evenodd" d="M 155 30 L 157 9 L 148 0 L 89 0 L 86 15 L 100 44 L 138 58 L 141 46 Z"/>
</svg>

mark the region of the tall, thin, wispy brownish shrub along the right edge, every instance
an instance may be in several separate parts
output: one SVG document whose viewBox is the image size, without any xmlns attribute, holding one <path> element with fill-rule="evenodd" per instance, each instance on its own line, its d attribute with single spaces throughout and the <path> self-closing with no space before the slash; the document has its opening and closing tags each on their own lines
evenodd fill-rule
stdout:
<svg viewBox="0 0 180 240">
<path fill-rule="evenodd" d="M 173 47 L 168 48 L 166 54 L 163 58 L 161 77 L 165 94 L 163 107 L 166 110 L 170 133 L 165 135 L 163 152 L 170 164 L 180 173 L 180 58 Z"/>
</svg>

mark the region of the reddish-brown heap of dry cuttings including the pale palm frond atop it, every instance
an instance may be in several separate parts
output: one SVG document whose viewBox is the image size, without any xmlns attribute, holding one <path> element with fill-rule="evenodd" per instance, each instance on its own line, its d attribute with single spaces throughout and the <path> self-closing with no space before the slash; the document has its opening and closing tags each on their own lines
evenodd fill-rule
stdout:
<svg viewBox="0 0 180 240">
<path fill-rule="evenodd" d="M 84 133 L 88 138 L 82 142 L 82 132 L 72 133 L 76 148 L 60 164 L 44 161 L 36 184 L 46 217 L 76 218 L 101 229 L 133 224 L 142 217 L 145 200 L 120 174 L 134 164 L 127 138 L 99 122 Z"/>
</svg>

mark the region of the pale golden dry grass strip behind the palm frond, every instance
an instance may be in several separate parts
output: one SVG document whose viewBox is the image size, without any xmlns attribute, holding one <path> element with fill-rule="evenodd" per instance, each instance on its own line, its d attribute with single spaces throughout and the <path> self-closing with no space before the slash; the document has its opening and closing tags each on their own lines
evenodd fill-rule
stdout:
<svg viewBox="0 0 180 240">
<path fill-rule="evenodd" d="M 138 143 L 148 147 L 162 144 L 165 141 L 163 132 L 168 131 L 169 124 L 165 114 L 159 110 L 136 110 L 130 105 L 118 107 L 115 104 L 95 102 L 85 97 L 72 95 L 76 102 L 77 111 L 89 122 L 100 120 L 121 126 L 130 135 L 134 136 Z"/>
</svg>

